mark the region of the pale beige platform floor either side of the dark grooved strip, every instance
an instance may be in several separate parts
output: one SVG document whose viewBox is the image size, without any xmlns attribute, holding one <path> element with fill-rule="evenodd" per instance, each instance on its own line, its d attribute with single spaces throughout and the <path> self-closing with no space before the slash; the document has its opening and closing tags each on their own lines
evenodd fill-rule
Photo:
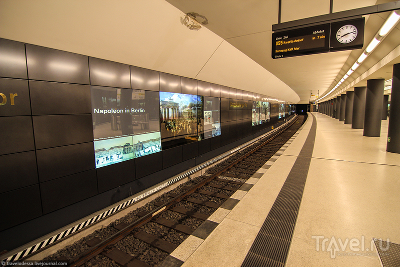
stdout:
<svg viewBox="0 0 400 267">
<path fill-rule="evenodd" d="M 372 238 L 400 243 L 400 154 L 385 151 L 388 120 L 380 137 L 364 137 L 362 129 L 312 114 L 247 189 L 171 253 L 170 266 L 242 264 L 314 118 L 315 143 L 285 266 L 381 266 Z"/>
</svg>

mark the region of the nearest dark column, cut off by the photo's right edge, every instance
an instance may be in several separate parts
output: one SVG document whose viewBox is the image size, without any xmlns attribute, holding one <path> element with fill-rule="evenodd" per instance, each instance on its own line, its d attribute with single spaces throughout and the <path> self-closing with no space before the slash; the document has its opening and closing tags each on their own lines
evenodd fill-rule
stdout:
<svg viewBox="0 0 400 267">
<path fill-rule="evenodd" d="M 400 154 L 400 64 L 393 65 L 386 151 Z"/>
</svg>

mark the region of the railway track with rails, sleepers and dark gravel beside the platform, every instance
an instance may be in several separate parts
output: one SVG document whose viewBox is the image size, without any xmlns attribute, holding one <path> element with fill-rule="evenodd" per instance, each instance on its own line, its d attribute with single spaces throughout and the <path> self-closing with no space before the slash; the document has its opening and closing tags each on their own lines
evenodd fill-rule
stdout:
<svg viewBox="0 0 400 267">
<path fill-rule="evenodd" d="M 70 266 L 149 267 L 187 238 L 242 186 L 298 130 L 299 116 L 273 136 L 243 148 L 205 174 L 164 193 L 45 260 L 69 260 Z"/>
</svg>

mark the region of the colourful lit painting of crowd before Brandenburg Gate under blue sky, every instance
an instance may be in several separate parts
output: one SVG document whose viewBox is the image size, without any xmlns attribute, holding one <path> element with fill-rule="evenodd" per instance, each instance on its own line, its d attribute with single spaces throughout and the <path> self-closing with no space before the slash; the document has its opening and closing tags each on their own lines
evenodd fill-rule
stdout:
<svg viewBox="0 0 400 267">
<path fill-rule="evenodd" d="M 159 108 L 163 149 L 197 141 L 197 116 L 202 113 L 201 97 L 159 92 Z"/>
</svg>

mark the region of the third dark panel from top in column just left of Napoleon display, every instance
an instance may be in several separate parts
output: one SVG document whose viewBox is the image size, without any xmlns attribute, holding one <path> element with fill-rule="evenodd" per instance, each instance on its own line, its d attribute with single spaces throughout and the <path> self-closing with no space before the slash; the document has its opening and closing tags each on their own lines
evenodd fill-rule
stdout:
<svg viewBox="0 0 400 267">
<path fill-rule="evenodd" d="M 36 149 L 93 141 L 91 114 L 33 116 Z"/>
</svg>

